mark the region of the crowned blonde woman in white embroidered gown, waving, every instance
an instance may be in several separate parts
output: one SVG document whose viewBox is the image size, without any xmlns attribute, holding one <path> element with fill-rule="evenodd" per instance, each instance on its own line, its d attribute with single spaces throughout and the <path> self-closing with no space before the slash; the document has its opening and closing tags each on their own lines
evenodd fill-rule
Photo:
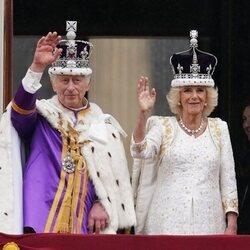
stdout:
<svg viewBox="0 0 250 250">
<path fill-rule="evenodd" d="M 137 233 L 236 234 L 229 132 L 226 122 L 208 118 L 217 105 L 211 77 L 217 59 L 197 49 L 196 31 L 190 35 L 191 49 L 171 57 L 175 75 L 167 100 L 175 117 L 149 118 L 156 91 L 147 77 L 138 82 L 131 143 Z"/>
</svg>

